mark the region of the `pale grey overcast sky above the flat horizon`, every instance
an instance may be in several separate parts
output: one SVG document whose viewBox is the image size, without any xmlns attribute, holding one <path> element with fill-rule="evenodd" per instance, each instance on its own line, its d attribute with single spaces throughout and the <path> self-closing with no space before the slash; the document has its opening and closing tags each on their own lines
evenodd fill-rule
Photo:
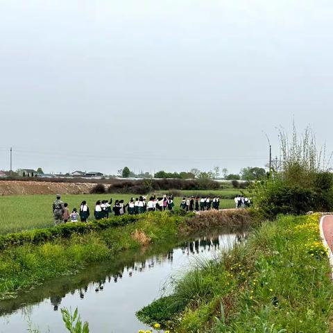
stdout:
<svg viewBox="0 0 333 333">
<path fill-rule="evenodd" d="M 238 172 L 333 148 L 332 0 L 1 0 L 0 169 Z"/>
</svg>

